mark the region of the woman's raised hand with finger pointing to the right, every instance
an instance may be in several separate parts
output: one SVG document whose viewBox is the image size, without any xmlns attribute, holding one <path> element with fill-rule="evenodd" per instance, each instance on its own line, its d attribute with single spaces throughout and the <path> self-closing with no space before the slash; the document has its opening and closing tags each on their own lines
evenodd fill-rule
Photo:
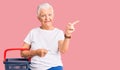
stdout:
<svg viewBox="0 0 120 70">
<path fill-rule="evenodd" d="M 65 30 L 65 34 L 66 36 L 71 36 L 72 32 L 75 31 L 74 25 L 77 24 L 79 21 L 74 21 L 73 23 L 68 23 L 66 30 Z"/>
</svg>

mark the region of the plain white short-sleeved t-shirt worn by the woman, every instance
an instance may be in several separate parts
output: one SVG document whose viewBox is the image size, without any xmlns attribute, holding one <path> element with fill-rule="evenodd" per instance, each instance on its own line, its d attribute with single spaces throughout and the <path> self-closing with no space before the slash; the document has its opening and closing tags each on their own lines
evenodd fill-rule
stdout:
<svg viewBox="0 0 120 70">
<path fill-rule="evenodd" d="M 24 42 L 31 45 L 31 50 L 44 48 L 48 50 L 45 57 L 34 56 L 31 58 L 31 70 L 47 70 L 55 66 L 63 66 L 61 55 L 58 51 L 58 41 L 64 40 L 62 30 L 43 30 L 40 27 L 32 29 Z"/>
</svg>

